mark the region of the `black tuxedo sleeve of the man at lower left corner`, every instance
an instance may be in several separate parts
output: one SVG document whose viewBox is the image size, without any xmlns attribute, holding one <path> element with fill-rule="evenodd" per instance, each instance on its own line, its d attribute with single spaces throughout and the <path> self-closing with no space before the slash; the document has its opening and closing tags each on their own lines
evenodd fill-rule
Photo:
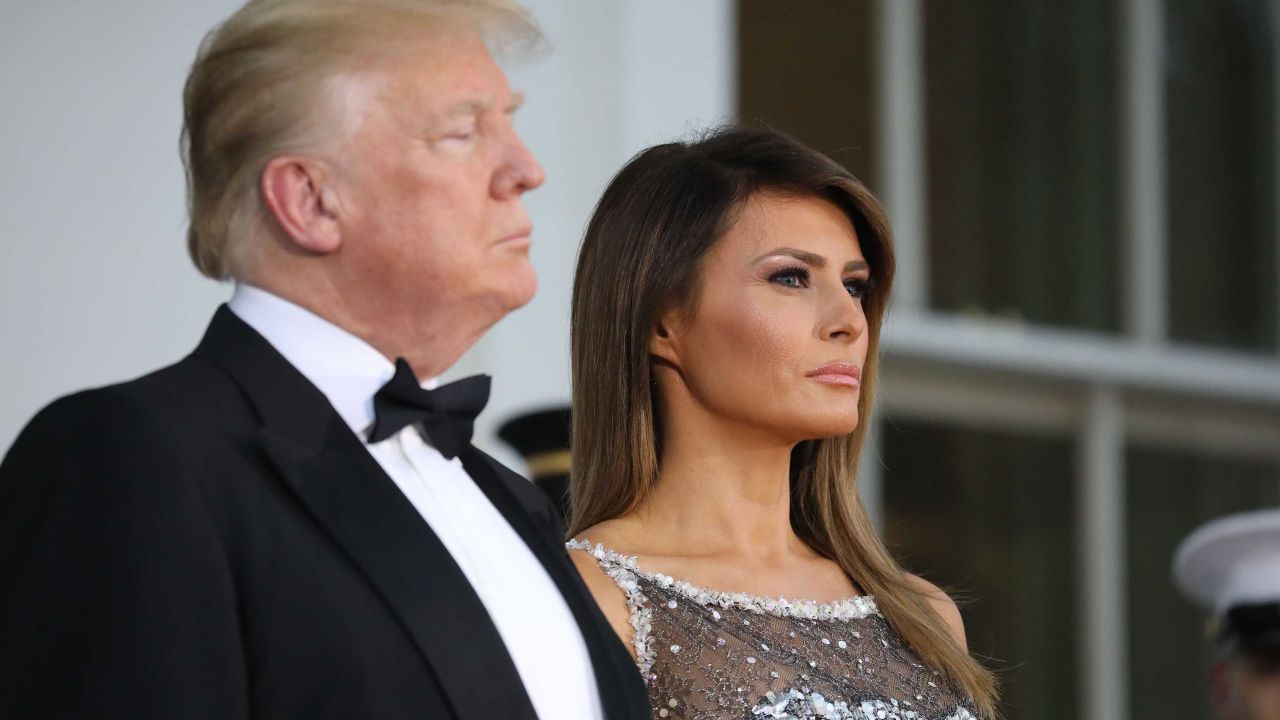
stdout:
<svg viewBox="0 0 1280 720">
<path fill-rule="evenodd" d="M 247 716 L 232 574 L 173 432 L 91 391 L 0 464 L 0 717 Z"/>
</svg>

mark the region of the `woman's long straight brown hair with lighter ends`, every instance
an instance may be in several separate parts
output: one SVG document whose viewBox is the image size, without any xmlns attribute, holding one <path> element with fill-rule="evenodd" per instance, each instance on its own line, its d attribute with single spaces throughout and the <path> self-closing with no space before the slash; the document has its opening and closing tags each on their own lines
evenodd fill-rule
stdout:
<svg viewBox="0 0 1280 720">
<path fill-rule="evenodd" d="M 692 307 L 708 251 L 755 193 L 819 197 L 854 224 L 872 269 L 859 415 L 872 411 L 881 323 L 893 279 L 888 218 L 845 168 L 769 131 L 722 128 L 636 155 L 600 197 L 579 254 L 571 315 L 573 423 L 570 537 L 635 509 L 658 479 L 662 418 L 649 336 L 662 313 Z M 876 597 L 933 669 L 996 715 L 995 679 L 956 642 L 890 556 L 858 496 L 865 423 L 806 441 L 791 457 L 791 525 Z"/>
</svg>

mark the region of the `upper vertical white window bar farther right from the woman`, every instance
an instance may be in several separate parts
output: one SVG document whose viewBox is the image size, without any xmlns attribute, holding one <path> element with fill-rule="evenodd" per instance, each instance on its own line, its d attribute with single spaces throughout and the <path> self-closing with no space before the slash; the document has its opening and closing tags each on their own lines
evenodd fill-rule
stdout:
<svg viewBox="0 0 1280 720">
<path fill-rule="evenodd" d="M 1124 19 L 1124 322 L 1139 342 L 1160 345 L 1169 333 L 1161 0 L 1125 0 Z"/>
</svg>

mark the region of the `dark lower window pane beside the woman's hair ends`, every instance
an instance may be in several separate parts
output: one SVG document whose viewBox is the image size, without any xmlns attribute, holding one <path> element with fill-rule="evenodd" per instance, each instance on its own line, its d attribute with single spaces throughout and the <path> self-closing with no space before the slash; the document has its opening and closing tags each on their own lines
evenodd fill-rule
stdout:
<svg viewBox="0 0 1280 720">
<path fill-rule="evenodd" d="M 969 647 L 995 660 L 1007 720 L 1074 720 L 1073 445 L 918 421 L 882 428 L 890 548 L 959 591 Z"/>
</svg>

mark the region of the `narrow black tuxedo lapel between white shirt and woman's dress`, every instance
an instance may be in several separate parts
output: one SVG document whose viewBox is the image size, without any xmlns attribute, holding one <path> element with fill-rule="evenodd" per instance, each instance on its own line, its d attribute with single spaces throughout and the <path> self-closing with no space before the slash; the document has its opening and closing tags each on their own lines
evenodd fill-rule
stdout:
<svg viewBox="0 0 1280 720">
<path fill-rule="evenodd" d="M 649 717 L 649 698 L 640 671 L 579 578 L 577 569 L 566 555 L 563 542 L 548 537 L 548 533 L 538 527 L 520 500 L 498 477 L 499 470 L 494 460 L 474 446 L 463 450 L 460 457 L 471 479 L 525 541 L 564 596 L 573 619 L 582 629 L 591 665 L 595 667 L 595 682 L 605 717 L 611 720 Z"/>
</svg>

